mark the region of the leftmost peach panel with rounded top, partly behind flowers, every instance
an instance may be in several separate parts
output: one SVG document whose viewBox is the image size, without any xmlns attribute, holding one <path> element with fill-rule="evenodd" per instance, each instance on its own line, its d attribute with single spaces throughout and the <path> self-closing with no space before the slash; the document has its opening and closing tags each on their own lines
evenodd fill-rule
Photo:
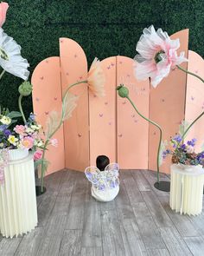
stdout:
<svg viewBox="0 0 204 256">
<path fill-rule="evenodd" d="M 60 58 L 49 57 L 40 62 L 32 75 L 33 84 L 33 108 L 36 119 L 43 128 L 46 128 L 46 120 L 52 110 L 61 113 L 61 72 Z M 58 147 L 48 146 L 46 159 L 50 162 L 48 173 L 61 170 L 65 167 L 64 135 L 61 128 L 54 138 L 58 140 Z"/>
</svg>

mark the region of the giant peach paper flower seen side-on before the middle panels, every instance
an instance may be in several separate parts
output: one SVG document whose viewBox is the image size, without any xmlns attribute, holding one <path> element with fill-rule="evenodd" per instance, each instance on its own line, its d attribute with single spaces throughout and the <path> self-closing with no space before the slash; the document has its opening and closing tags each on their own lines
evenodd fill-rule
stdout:
<svg viewBox="0 0 204 256">
<path fill-rule="evenodd" d="M 87 82 L 93 95 L 105 96 L 105 74 L 98 58 L 95 58 L 92 62 L 88 71 Z"/>
</svg>

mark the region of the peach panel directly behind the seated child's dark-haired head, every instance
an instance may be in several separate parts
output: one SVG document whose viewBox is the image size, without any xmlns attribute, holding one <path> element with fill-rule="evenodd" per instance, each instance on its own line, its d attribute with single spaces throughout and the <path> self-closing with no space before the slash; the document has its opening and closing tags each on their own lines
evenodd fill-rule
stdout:
<svg viewBox="0 0 204 256">
<path fill-rule="evenodd" d="M 116 157 L 116 57 L 101 62 L 105 72 L 105 97 L 89 94 L 90 111 L 90 164 L 105 154 L 110 161 Z"/>
</svg>

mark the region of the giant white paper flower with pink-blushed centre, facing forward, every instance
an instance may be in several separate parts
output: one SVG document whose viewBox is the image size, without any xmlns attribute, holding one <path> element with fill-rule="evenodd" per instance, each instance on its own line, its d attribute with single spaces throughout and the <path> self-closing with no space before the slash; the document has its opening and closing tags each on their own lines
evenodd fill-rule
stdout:
<svg viewBox="0 0 204 256">
<path fill-rule="evenodd" d="M 188 61 L 184 52 L 177 56 L 179 47 L 179 39 L 171 40 L 162 29 L 156 31 L 153 25 L 144 29 L 136 47 L 139 53 L 135 56 L 137 79 L 146 80 L 150 77 L 152 86 L 156 88 L 169 75 L 171 68 Z"/>
</svg>

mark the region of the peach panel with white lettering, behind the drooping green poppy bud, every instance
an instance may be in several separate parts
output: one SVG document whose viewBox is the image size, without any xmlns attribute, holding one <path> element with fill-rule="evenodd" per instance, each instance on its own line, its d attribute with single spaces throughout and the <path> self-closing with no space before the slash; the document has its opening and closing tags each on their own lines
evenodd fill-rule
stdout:
<svg viewBox="0 0 204 256">
<path fill-rule="evenodd" d="M 133 74 L 133 60 L 117 56 L 117 85 L 124 83 L 139 111 L 149 116 L 149 81 L 138 82 Z M 118 163 L 122 169 L 148 168 L 149 123 L 132 108 L 131 103 L 117 97 Z"/>
</svg>

